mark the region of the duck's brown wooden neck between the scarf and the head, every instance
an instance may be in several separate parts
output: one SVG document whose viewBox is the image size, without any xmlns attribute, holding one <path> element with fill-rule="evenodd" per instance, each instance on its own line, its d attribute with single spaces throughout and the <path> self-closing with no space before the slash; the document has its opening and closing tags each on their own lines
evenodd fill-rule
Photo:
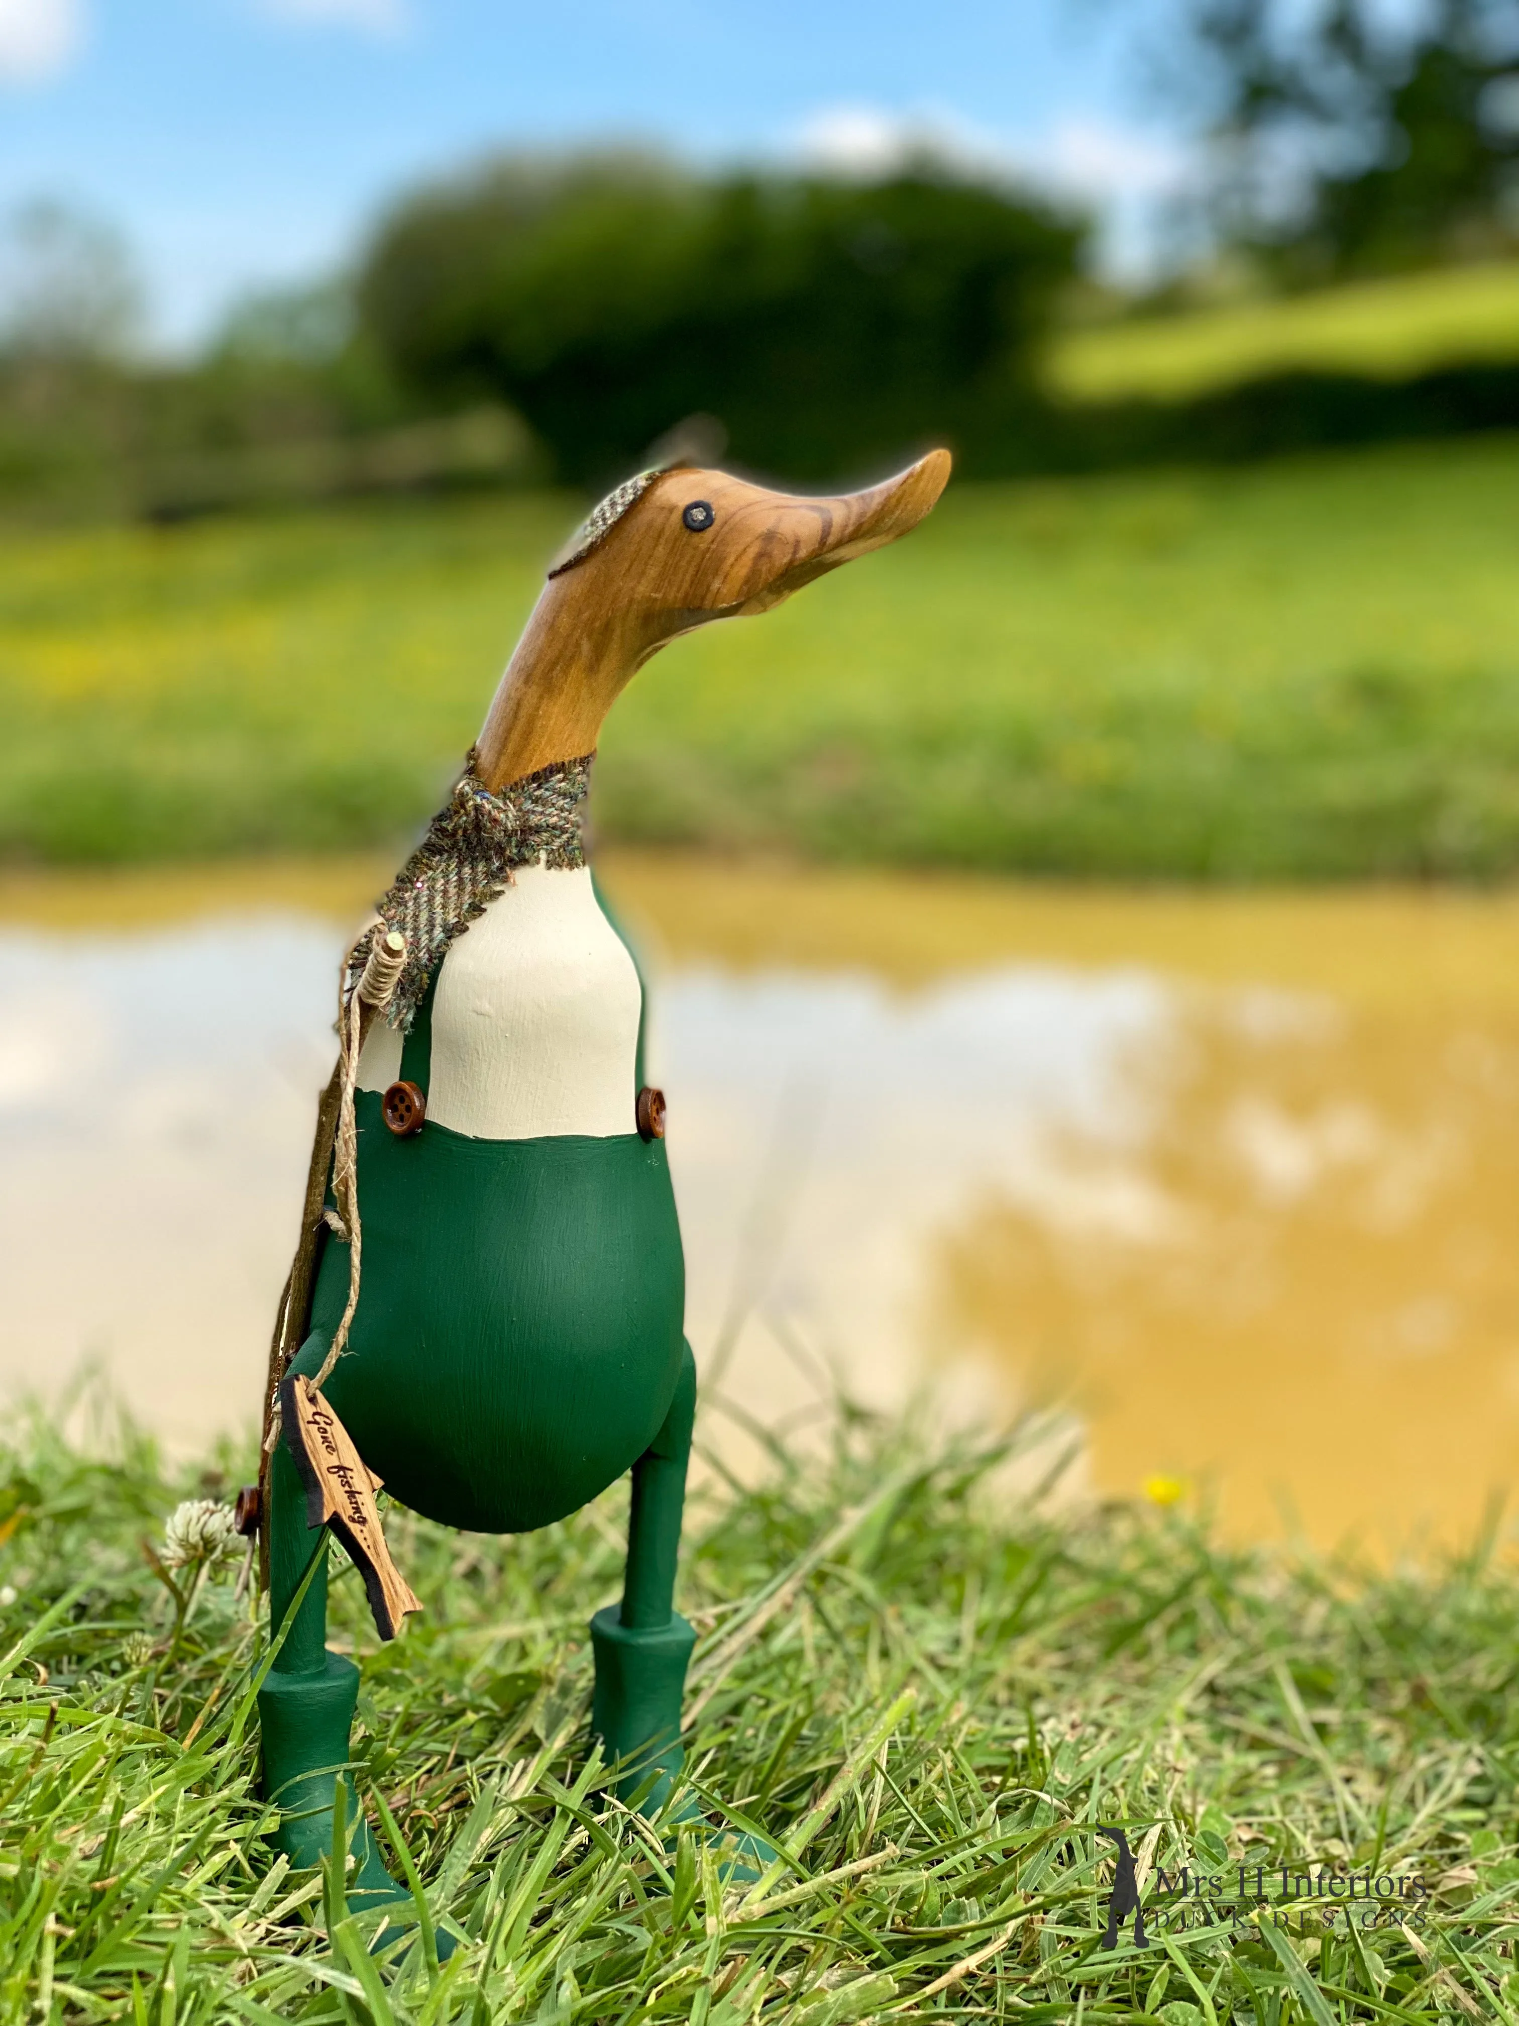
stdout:
<svg viewBox="0 0 1519 2026">
<path fill-rule="evenodd" d="M 543 588 L 486 711 L 476 772 L 492 792 L 595 752 L 606 713 L 648 654 L 630 616 L 587 612 L 567 594 L 575 575 Z"/>
</svg>

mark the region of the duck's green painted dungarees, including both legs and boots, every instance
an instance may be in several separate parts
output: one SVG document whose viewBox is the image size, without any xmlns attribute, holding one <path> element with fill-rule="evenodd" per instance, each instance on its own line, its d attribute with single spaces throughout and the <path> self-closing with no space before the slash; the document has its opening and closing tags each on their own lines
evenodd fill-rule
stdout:
<svg viewBox="0 0 1519 2026">
<path fill-rule="evenodd" d="M 401 1078 L 423 1092 L 435 987 L 437 972 L 401 1054 Z M 638 1054 L 636 1080 L 642 1033 Z M 363 1280 L 324 1394 L 387 1491 L 444 1526 L 529 1532 L 634 1471 L 622 1607 L 591 1623 L 591 1722 L 608 1759 L 624 1763 L 624 1795 L 654 1773 L 658 1803 L 681 1765 L 695 1643 L 672 1611 L 695 1363 L 664 1143 L 638 1133 L 484 1141 L 435 1122 L 399 1139 L 367 1090 L 356 1120 Z M 292 1372 L 320 1368 L 346 1297 L 348 1246 L 328 1238 Z M 271 1465 L 277 1627 L 318 1536 L 284 1445 Z M 326 1651 L 322 1560 L 259 1694 L 265 1795 L 286 1809 L 277 1842 L 296 1864 L 330 1844 L 356 1692 L 358 1669 Z M 395 1896 L 363 1821 L 354 1854 L 350 1896 Z"/>
</svg>

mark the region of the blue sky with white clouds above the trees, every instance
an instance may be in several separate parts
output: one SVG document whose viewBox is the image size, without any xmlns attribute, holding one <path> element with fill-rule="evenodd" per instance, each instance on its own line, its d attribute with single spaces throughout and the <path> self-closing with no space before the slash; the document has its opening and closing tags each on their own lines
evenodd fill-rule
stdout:
<svg viewBox="0 0 1519 2026">
<path fill-rule="evenodd" d="M 915 136 L 1094 207 L 1142 267 L 1187 154 L 1161 0 L 0 0 L 0 215 L 119 227 L 164 348 L 332 271 L 399 190 L 514 146 L 869 170 Z"/>
</svg>

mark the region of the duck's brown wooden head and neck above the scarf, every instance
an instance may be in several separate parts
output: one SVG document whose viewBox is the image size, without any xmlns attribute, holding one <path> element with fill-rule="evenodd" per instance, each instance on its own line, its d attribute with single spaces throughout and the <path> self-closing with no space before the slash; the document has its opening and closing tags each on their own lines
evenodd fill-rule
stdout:
<svg viewBox="0 0 1519 2026">
<path fill-rule="evenodd" d="M 770 612 L 883 549 L 917 527 L 948 476 L 948 450 L 932 450 L 879 486 L 832 498 L 695 466 L 630 480 L 551 567 L 476 742 L 480 780 L 502 788 L 593 752 L 618 693 L 666 640 Z"/>
</svg>

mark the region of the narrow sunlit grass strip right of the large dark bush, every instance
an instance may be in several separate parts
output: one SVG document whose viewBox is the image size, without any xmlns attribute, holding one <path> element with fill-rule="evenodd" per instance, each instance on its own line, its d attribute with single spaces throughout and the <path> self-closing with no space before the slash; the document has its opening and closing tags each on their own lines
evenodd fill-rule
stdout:
<svg viewBox="0 0 1519 2026">
<path fill-rule="evenodd" d="M 1519 261 L 1493 261 L 1065 330 L 1045 377 L 1077 401 L 1187 401 L 1294 369 L 1397 381 L 1517 359 Z"/>
</svg>

